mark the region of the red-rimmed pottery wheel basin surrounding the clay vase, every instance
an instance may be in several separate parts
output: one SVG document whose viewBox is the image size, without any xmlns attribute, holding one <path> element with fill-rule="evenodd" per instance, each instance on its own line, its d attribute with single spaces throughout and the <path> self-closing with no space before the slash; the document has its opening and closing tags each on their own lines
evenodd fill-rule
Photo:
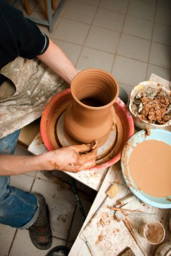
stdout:
<svg viewBox="0 0 171 256">
<path fill-rule="evenodd" d="M 65 131 L 63 117 L 65 110 L 71 104 L 72 97 L 70 89 L 55 95 L 48 102 L 40 122 L 40 131 L 44 144 L 48 150 L 57 150 L 63 146 L 75 145 L 79 142 L 71 139 Z M 133 119 L 127 110 L 127 106 L 119 98 L 114 103 L 116 112 L 116 125 L 111 131 L 108 140 L 98 150 L 96 166 L 91 168 L 107 168 L 121 159 L 121 152 L 126 141 L 134 132 Z"/>
</svg>

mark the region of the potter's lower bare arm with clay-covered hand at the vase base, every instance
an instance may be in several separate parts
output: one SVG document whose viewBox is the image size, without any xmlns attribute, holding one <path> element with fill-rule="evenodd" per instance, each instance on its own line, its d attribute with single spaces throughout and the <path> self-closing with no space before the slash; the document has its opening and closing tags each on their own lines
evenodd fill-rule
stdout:
<svg viewBox="0 0 171 256">
<path fill-rule="evenodd" d="M 46 152 L 39 156 L 1 155 L 0 176 L 55 169 L 78 172 L 95 165 L 96 153 L 92 146 L 83 144 Z"/>
</svg>

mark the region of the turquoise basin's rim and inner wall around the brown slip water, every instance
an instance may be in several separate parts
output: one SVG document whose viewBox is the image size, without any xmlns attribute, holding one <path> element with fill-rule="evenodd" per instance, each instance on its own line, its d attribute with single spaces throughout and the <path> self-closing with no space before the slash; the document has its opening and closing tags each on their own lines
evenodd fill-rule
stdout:
<svg viewBox="0 0 171 256">
<path fill-rule="evenodd" d="M 149 139 L 157 139 L 160 141 L 164 141 L 165 143 L 168 143 L 168 145 L 171 146 L 170 131 L 166 131 L 163 129 L 149 129 L 149 130 L 151 131 L 150 135 L 146 135 L 144 130 L 138 131 L 125 144 L 125 147 L 123 148 L 123 153 L 121 156 L 121 168 L 123 172 L 123 177 L 125 179 L 125 182 L 129 186 L 129 189 L 133 192 L 133 194 L 136 195 L 136 197 L 141 199 L 143 202 L 158 208 L 165 208 L 165 209 L 171 208 L 171 195 L 168 197 L 153 197 L 143 191 L 140 191 L 135 185 L 135 183 L 133 182 L 133 179 L 131 178 L 131 175 L 129 173 L 129 168 L 128 168 L 129 157 L 131 156 L 131 152 L 133 151 L 133 148 L 135 148 L 135 146 L 138 143 L 141 143 Z M 127 156 L 126 162 L 125 162 L 125 156 Z M 127 166 L 127 174 L 125 172 L 125 166 L 123 164 L 124 162 Z M 171 179 L 171 166 L 170 166 L 170 179 Z"/>
</svg>

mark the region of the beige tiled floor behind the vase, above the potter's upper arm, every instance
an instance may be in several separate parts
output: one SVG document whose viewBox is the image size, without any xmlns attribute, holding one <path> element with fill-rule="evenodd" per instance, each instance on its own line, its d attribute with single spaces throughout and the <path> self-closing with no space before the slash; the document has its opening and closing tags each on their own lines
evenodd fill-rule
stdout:
<svg viewBox="0 0 171 256">
<path fill-rule="evenodd" d="M 151 73 L 171 78 L 170 11 L 170 0 L 67 0 L 53 33 L 39 27 L 77 69 L 109 71 L 130 94 Z"/>
</svg>

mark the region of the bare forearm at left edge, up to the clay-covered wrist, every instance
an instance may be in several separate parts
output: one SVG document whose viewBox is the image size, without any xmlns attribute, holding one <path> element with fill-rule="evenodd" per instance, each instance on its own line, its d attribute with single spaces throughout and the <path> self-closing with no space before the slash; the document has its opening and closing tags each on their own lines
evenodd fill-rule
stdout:
<svg viewBox="0 0 171 256">
<path fill-rule="evenodd" d="M 43 155 L 40 156 L 0 156 L 0 176 L 11 176 L 32 172 L 36 170 L 44 170 L 46 161 Z"/>
</svg>

